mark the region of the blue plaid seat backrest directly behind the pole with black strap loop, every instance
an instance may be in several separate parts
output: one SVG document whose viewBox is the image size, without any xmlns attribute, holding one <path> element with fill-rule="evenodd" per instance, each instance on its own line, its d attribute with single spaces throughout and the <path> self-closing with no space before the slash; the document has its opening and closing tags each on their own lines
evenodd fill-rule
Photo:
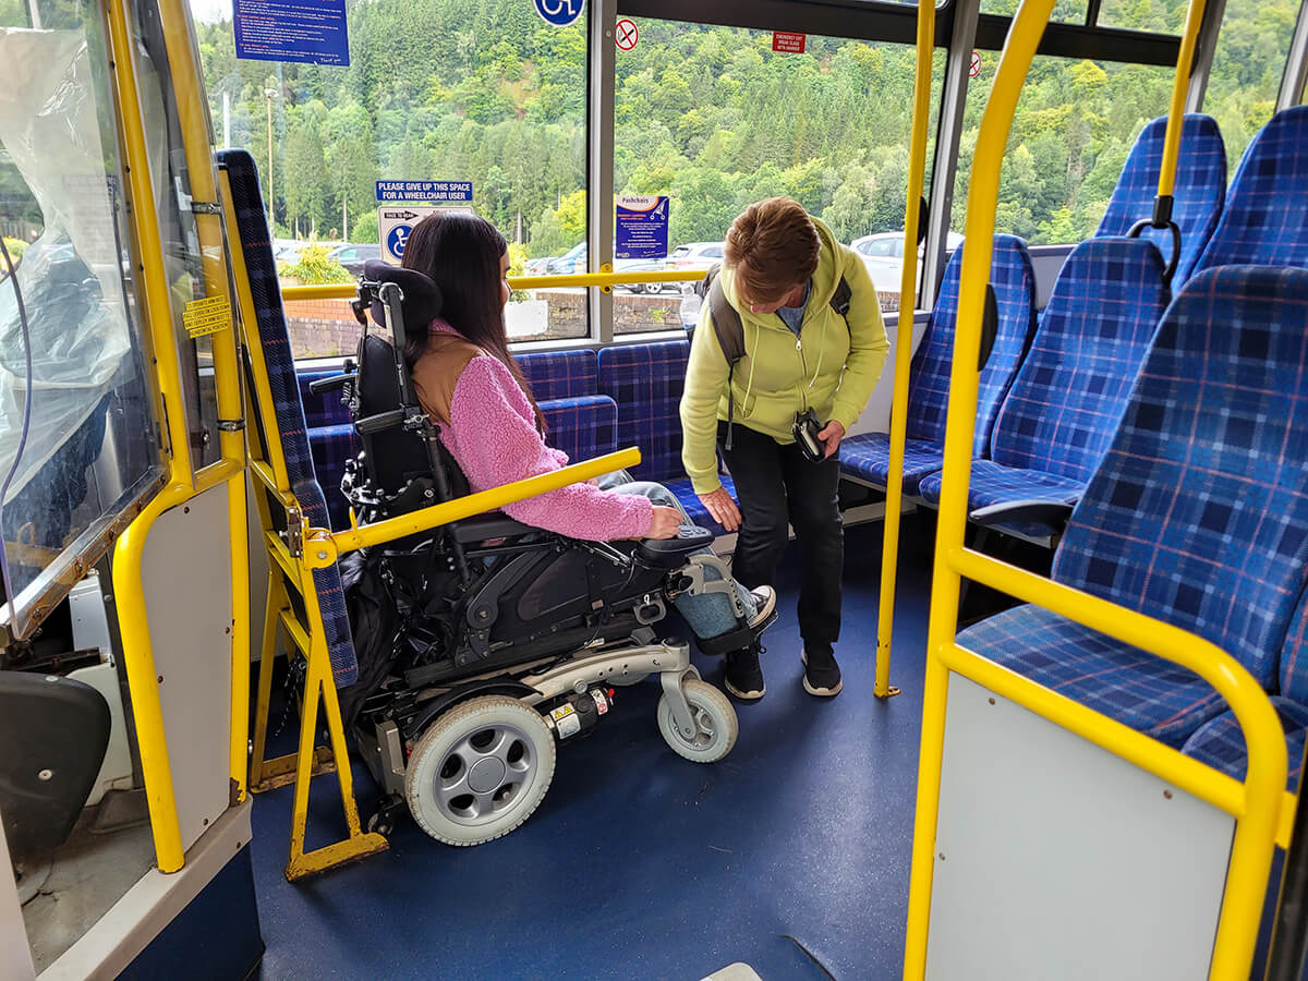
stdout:
<svg viewBox="0 0 1308 981">
<path fill-rule="evenodd" d="M 1135 137 L 1117 179 L 1113 196 L 1095 237 L 1125 235 L 1137 221 L 1154 215 L 1158 171 L 1163 166 L 1167 116 L 1144 126 Z M 1181 230 L 1181 254 L 1172 275 L 1172 288 L 1180 289 L 1190 277 L 1194 263 L 1213 235 L 1226 201 L 1226 144 L 1213 116 L 1188 112 L 1181 127 L 1181 148 L 1176 160 L 1176 186 L 1172 191 L 1172 221 Z M 1172 234 L 1167 229 L 1144 229 L 1141 238 L 1152 241 L 1172 258 Z"/>
</svg>

